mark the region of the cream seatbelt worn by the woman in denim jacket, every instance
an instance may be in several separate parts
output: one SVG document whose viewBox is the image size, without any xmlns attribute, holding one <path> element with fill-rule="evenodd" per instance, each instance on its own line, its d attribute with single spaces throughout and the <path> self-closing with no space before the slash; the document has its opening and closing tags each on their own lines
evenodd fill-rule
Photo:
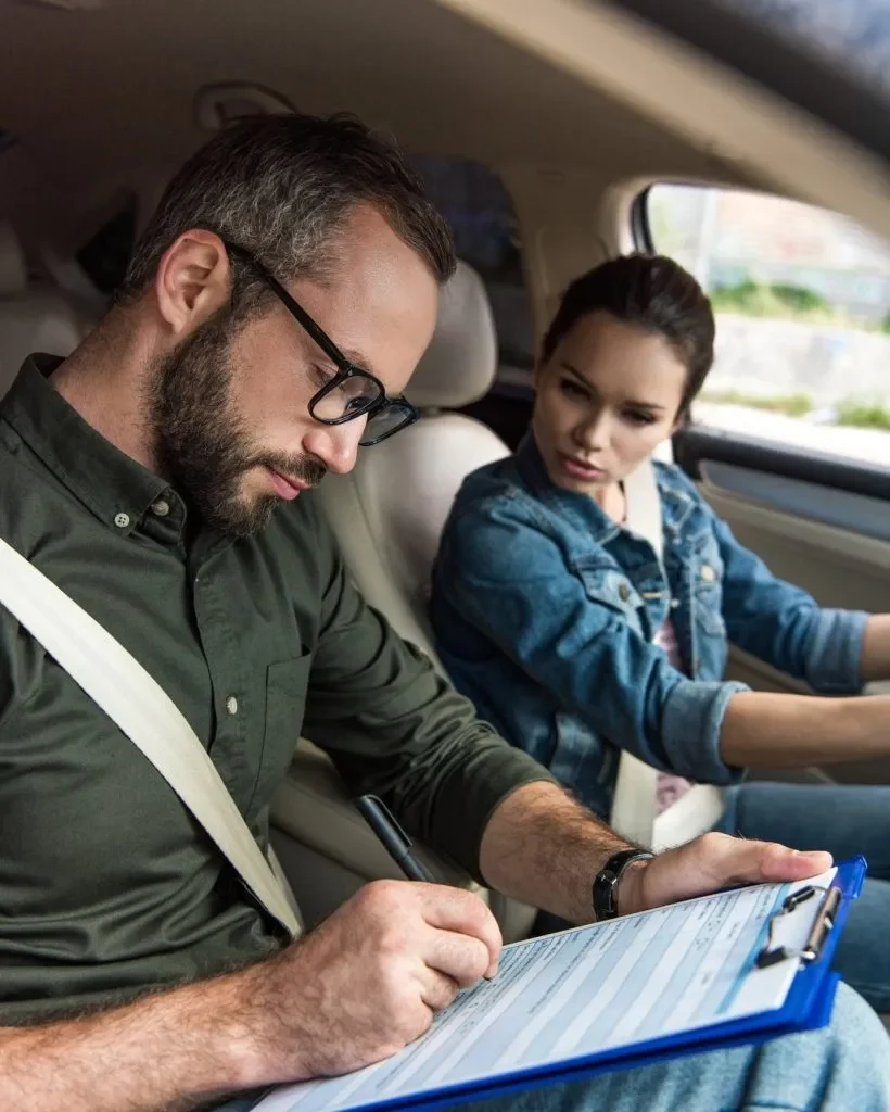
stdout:
<svg viewBox="0 0 890 1112">
<path fill-rule="evenodd" d="M 651 460 L 624 479 L 624 502 L 627 527 L 648 540 L 659 564 L 663 564 L 661 499 Z M 657 770 L 622 749 L 610 818 L 614 830 L 642 845 L 666 850 L 711 830 L 723 812 L 721 790 L 713 784 L 696 784 L 659 815 L 657 786 Z"/>
</svg>

